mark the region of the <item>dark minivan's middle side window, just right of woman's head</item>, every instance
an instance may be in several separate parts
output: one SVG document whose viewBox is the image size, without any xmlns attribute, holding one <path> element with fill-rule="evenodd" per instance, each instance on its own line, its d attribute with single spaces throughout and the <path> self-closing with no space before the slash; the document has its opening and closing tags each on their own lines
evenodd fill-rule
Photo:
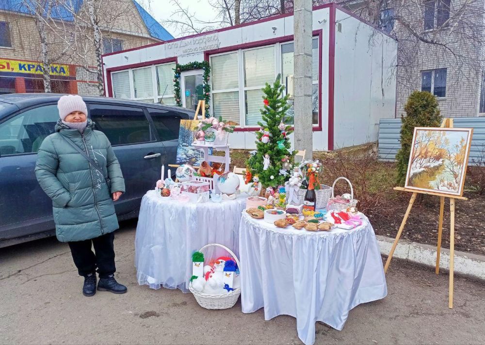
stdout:
<svg viewBox="0 0 485 345">
<path fill-rule="evenodd" d="M 96 124 L 95 129 L 106 134 L 113 146 L 155 141 L 140 108 L 91 105 L 90 117 Z"/>
</svg>

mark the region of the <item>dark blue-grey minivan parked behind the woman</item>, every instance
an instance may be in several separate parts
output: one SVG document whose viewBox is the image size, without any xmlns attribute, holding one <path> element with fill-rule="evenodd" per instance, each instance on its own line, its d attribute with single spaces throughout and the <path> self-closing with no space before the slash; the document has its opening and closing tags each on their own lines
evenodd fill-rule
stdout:
<svg viewBox="0 0 485 345">
<path fill-rule="evenodd" d="M 54 234 L 52 202 L 35 179 L 42 141 L 54 132 L 62 94 L 0 95 L 0 248 Z M 194 111 L 107 97 L 83 97 L 88 117 L 113 145 L 126 193 L 119 220 L 138 216 L 140 201 L 176 161 L 180 119 Z"/>
</svg>

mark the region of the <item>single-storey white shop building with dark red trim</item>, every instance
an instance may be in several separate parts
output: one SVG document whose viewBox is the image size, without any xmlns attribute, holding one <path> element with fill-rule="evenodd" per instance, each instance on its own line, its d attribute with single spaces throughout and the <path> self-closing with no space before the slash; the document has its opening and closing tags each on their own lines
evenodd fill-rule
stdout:
<svg viewBox="0 0 485 345">
<path fill-rule="evenodd" d="M 379 119 L 395 117 L 397 42 L 334 3 L 314 7 L 312 18 L 314 149 L 376 141 Z M 203 61 L 211 69 L 210 114 L 237 125 L 232 148 L 255 148 L 260 89 L 281 74 L 292 92 L 292 13 L 105 54 L 107 95 L 175 104 L 178 80 L 182 106 L 194 108 L 206 96 L 204 70 L 174 78 L 174 69 Z"/>
</svg>

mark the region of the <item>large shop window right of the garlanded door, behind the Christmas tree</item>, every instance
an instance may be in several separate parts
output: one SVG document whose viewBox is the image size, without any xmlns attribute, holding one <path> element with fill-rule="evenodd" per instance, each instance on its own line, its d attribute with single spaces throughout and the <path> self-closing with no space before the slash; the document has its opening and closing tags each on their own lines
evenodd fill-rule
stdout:
<svg viewBox="0 0 485 345">
<path fill-rule="evenodd" d="M 258 126 L 261 120 L 261 89 L 273 83 L 281 73 L 286 92 L 292 94 L 293 43 L 239 49 L 210 56 L 212 109 L 214 116 L 222 115 L 232 125 Z M 319 39 L 312 41 L 312 99 L 313 124 L 318 125 L 319 114 Z M 290 90 L 291 89 L 291 90 Z M 292 105 L 292 100 L 290 100 Z M 285 123 L 293 124 L 293 107 L 287 112 Z"/>
</svg>

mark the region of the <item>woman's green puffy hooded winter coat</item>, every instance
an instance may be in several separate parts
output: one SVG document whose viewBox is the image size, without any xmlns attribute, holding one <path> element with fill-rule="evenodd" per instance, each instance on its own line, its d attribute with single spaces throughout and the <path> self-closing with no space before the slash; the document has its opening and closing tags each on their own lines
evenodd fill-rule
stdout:
<svg viewBox="0 0 485 345">
<path fill-rule="evenodd" d="M 39 148 L 35 176 L 52 199 L 56 235 L 61 242 L 82 241 L 118 229 L 111 193 L 125 192 L 125 181 L 111 143 L 104 133 L 92 129 L 88 120 L 84 133 L 69 129 L 61 121 L 56 132 Z M 62 137 L 88 152 L 111 180 L 106 180 L 88 160 Z"/>
</svg>

